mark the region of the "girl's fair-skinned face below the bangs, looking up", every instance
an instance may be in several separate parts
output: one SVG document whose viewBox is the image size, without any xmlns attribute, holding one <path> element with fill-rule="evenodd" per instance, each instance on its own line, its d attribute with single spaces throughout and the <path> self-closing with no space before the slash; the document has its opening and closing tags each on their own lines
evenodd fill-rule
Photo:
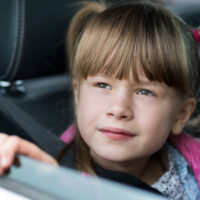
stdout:
<svg viewBox="0 0 200 200">
<path fill-rule="evenodd" d="M 176 90 L 145 76 L 140 82 L 88 77 L 75 90 L 75 101 L 80 134 L 99 160 L 148 158 L 179 123 Z"/>
</svg>

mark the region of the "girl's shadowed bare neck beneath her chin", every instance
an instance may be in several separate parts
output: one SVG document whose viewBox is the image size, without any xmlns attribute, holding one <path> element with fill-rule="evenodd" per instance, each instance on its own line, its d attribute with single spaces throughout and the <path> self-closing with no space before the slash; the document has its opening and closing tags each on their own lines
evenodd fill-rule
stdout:
<svg viewBox="0 0 200 200">
<path fill-rule="evenodd" d="M 94 153 L 91 153 L 91 155 L 94 161 L 101 167 L 107 170 L 128 173 L 148 185 L 155 183 L 166 171 L 159 156 L 156 154 L 145 159 L 117 163 L 97 157 Z"/>
</svg>

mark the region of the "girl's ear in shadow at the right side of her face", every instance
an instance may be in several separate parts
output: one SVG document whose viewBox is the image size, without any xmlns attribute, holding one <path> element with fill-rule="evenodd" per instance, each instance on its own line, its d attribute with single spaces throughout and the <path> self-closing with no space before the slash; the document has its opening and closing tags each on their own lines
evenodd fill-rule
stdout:
<svg viewBox="0 0 200 200">
<path fill-rule="evenodd" d="M 180 110 L 177 114 L 176 121 L 172 126 L 171 133 L 173 135 L 181 134 L 184 126 L 186 125 L 192 113 L 194 112 L 195 107 L 196 107 L 196 100 L 194 98 L 188 98 L 182 103 Z"/>
</svg>

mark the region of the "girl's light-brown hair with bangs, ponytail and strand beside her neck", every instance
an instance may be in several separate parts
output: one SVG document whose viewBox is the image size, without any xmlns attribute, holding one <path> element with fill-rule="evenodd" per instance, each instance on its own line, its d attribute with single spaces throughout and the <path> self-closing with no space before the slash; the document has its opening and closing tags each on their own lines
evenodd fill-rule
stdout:
<svg viewBox="0 0 200 200">
<path fill-rule="evenodd" d="M 72 82 L 98 73 L 120 80 L 131 74 L 139 81 L 142 68 L 149 80 L 181 95 L 199 92 L 200 61 L 191 30 L 158 5 L 85 3 L 72 20 L 68 52 Z M 89 148 L 79 136 L 75 143 L 77 169 L 94 174 Z"/>
</svg>

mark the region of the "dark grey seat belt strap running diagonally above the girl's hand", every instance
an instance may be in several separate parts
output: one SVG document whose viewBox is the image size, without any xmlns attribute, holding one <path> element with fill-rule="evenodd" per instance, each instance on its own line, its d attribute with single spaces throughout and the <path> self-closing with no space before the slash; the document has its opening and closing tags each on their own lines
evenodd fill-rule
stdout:
<svg viewBox="0 0 200 200">
<path fill-rule="evenodd" d="M 34 120 L 28 113 L 2 95 L 0 95 L 0 115 L 4 115 L 9 120 L 9 123 L 16 126 L 20 131 L 20 136 L 29 136 L 34 143 L 53 157 L 56 157 L 66 145 L 51 131 Z"/>
</svg>

